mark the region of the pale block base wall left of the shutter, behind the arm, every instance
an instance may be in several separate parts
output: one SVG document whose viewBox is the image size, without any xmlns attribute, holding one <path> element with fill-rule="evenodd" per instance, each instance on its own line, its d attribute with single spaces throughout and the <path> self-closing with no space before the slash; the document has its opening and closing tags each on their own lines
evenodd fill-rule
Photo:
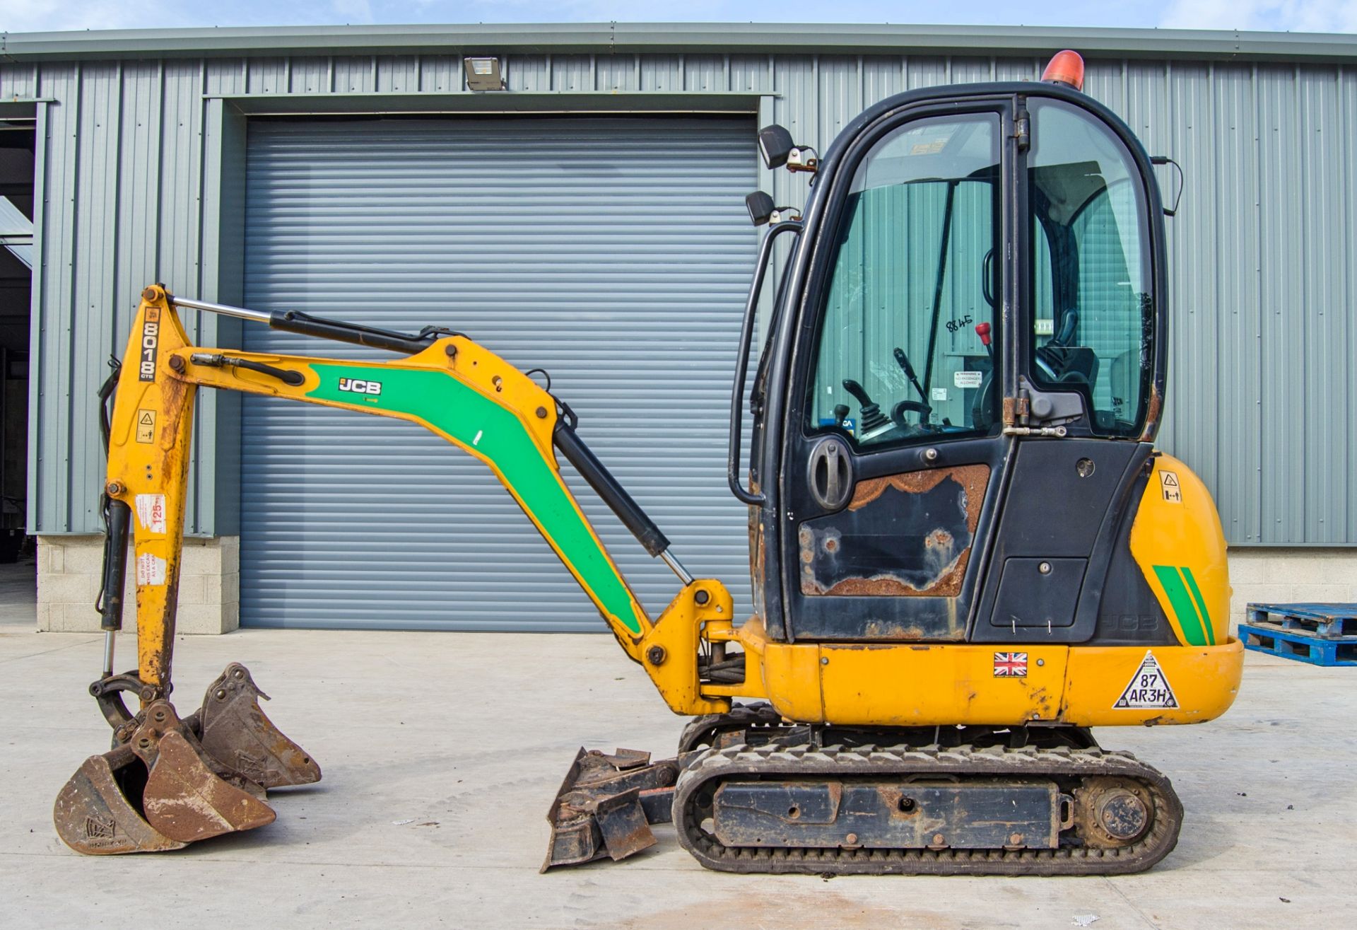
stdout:
<svg viewBox="0 0 1357 930">
<path fill-rule="evenodd" d="M 38 536 L 38 629 L 96 633 L 103 536 Z M 123 629 L 136 626 L 130 554 Z M 179 568 L 176 633 L 231 633 L 240 626 L 240 538 L 186 539 Z"/>
</svg>

